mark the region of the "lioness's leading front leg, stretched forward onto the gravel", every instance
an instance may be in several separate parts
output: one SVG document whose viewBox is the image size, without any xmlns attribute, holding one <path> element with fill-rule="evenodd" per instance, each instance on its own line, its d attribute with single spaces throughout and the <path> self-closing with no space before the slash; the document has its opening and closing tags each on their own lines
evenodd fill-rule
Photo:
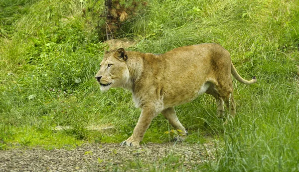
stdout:
<svg viewBox="0 0 299 172">
<path fill-rule="evenodd" d="M 133 135 L 126 141 L 121 143 L 121 146 L 139 146 L 143 140 L 146 131 L 149 128 L 151 120 L 157 115 L 154 106 L 146 106 L 142 108 L 138 123 L 133 131 Z"/>
</svg>

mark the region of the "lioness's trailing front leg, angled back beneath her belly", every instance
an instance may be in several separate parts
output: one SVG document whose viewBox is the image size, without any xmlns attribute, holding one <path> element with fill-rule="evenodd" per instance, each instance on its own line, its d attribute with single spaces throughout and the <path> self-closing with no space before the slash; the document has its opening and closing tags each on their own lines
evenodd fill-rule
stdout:
<svg viewBox="0 0 299 172">
<path fill-rule="evenodd" d="M 161 114 L 169 121 L 172 127 L 178 130 L 178 136 L 173 138 L 174 141 L 182 142 L 187 137 L 187 131 L 183 125 L 179 122 L 174 107 L 164 109 Z"/>
</svg>

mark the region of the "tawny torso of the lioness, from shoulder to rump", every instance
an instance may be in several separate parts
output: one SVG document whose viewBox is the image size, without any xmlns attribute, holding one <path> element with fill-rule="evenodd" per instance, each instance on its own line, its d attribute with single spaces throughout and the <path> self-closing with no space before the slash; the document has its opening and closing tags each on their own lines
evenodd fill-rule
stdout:
<svg viewBox="0 0 299 172">
<path fill-rule="evenodd" d="M 223 71 L 219 61 L 227 63 L 223 67 L 230 77 L 229 53 L 218 44 L 184 46 L 159 55 L 128 51 L 130 55 L 143 59 L 143 72 L 132 90 L 137 107 L 155 102 L 164 109 L 194 100 L 209 84 L 217 84 L 217 70 Z"/>
</svg>

